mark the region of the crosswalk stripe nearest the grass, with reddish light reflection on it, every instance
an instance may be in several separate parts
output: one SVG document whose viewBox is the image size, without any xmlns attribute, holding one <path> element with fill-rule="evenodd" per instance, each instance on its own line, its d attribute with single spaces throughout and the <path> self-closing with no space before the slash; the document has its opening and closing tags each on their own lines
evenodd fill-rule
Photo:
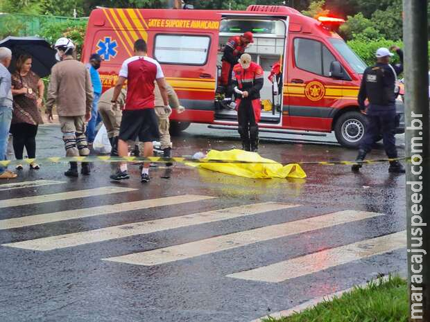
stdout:
<svg viewBox="0 0 430 322">
<path fill-rule="evenodd" d="M 395 251 L 402 247 L 406 247 L 406 231 L 354 242 L 353 244 L 325 251 L 318 251 L 291 260 L 277 262 L 273 265 L 230 274 L 227 277 L 279 283 L 291 278 L 316 273 L 330 267 L 347 264 L 354 260 L 361 260 L 381 253 Z"/>
</svg>

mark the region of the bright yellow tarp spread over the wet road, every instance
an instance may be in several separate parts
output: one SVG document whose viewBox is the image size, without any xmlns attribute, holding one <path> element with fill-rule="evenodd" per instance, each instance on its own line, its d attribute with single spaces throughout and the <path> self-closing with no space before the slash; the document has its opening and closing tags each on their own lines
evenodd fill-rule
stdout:
<svg viewBox="0 0 430 322">
<path fill-rule="evenodd" d="M 306 173 L 297 163 L 282 166 L 281 163 L 270 159 L 264 159 L 255 152 L 243 150 L 217 151 L 210 150 L 203 160 L 247 161 L 268 163 L 193 163 L 193 166 L 222 172 L 227 175 L 239 177 L 270 179 L 270 178 L 295 178 L 304 179 Z"/>
</svg>

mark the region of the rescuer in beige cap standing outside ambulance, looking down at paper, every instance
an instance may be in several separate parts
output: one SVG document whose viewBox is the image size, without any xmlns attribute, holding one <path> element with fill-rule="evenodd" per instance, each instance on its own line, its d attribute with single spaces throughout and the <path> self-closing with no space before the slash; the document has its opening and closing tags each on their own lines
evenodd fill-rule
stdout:
<svg viewBox="0 0 430 322">
<path fill-rule="evenodd" d="M 232 72 L 236 99 L 238 131 L 245 151 L 258 150 L 258 124 L 261 118 L 260 90 L 264 83 L 263 69 L 251 61 L 249 54 L 241 55 Z"/>
</svg>

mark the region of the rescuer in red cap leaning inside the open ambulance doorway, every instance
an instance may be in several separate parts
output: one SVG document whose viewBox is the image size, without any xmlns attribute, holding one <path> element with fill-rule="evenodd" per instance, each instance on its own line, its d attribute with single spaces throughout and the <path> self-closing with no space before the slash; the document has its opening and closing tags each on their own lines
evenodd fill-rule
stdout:
<svg viewBox="0 0 430 322">
<path fill-rule="evenodd" d="M 232 96 L 231 80 L 233 66 L 237 64 L 237 61 L 241 55 L 245 52 L 246 46 L 254 42 L 252 39 L 252 33 L 247 31 L 241 36 L 234 36 L 228 39 L 225 44 L 224 55 L 221 59 L 223 64 L 221 66 L 221 86 L 225 87 L 226 97 Z"/>
</svg>

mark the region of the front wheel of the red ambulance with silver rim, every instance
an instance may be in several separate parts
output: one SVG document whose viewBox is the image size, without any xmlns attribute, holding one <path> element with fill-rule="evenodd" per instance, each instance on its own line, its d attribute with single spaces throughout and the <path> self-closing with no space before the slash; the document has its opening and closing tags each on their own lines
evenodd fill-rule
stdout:
<svg viewBox="0 0 430 322">
<path fill-rule="evenodd" d="M 347 111 L 339 116 L 334 125 L 338 143 L 344 147 L 358 148 L 364 138 L 367 120 L 359 111 Z"/>
</svg>

